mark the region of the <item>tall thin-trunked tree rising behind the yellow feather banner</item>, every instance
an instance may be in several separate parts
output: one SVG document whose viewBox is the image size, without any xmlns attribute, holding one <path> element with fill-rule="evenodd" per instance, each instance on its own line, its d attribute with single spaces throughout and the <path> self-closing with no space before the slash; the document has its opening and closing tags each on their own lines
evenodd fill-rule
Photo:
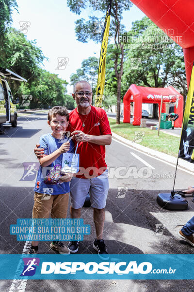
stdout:
<svg viewBox="0 0 194 292">
<path fill-rule="evenodd" d="M 81 9 L 85 9 L 88 6 L 92 7 L 94 11 L 105 13 L 109 0 L 67 0 L 67 5 L 70 10 L 78 15 L 81 14 Z M 123 60 L 124 60 L 124 49 L 121 41 L 121 34 L 124 33 L 124 26 L 121 24 L 122 13 L 125 10 L 129 10 L 131 7 L 129 0 L 113 0 L 112 11 L 111 11 L 111 25 L 110 25 L 110 36 L 114 37 L 114 43 L 117 48 L 114 54 L 114 71 L 117 80 L 117 113 L 116 122 L 120 124 L 120 101 L 121 101 L 121 77 L 123 74 Z M 96 14 L 97 14 L 96 13 Z M 99 13 L 98 13 L 99 14 Z M 101 41 L 101 33 L 96 33 L 97 23 L 101 22 L 103 17 L 89 16 L 89 20 L 78 19 L 76 23 L 76 36 L 81 42 L 87 42 L 88 39 L 93 39 L 96 42 Z M 120 65 L 118 65 L 120 59 Z"/>
</svg>

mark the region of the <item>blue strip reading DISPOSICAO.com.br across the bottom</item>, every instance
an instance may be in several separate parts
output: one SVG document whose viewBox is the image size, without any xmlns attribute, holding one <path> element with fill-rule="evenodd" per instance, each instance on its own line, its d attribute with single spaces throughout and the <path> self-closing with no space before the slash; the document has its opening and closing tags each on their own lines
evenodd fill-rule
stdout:
<svg viewBox="0 0 194 292">
<path fill-rule="evenodd" d="M 194 279 L 194 255 L 0 255 L 0 279 Z"/>
</svg>

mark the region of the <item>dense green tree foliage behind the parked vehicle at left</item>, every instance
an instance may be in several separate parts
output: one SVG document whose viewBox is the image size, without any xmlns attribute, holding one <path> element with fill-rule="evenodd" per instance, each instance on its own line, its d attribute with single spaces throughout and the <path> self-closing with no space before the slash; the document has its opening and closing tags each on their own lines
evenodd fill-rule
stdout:
<svg viewBox="0 0 194 292">
<path fill-rule="evenodd" d="M 28 80 L 25 82 L 9 81 L 14 98 L 22 102 L 22 95 L 32 95 L 30 108 L 48 108 L 54 105 L 69 106 L 66 96 L 65 80 L 40 68 L 46 57 L 35 41 L 30 41 L 23 33 L 10 28 L 7 30 L 0 47 L 0 68 L 8 68 Z"/>
</svg>

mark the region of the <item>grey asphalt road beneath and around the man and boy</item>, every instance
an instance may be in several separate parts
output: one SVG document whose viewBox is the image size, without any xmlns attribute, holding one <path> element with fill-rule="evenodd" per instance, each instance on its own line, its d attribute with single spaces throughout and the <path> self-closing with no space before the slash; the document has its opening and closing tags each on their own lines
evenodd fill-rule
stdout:
<svg viewBox="0 0 194 292">
<path fill-rule="evenodd" d="M 46 114 L 20 117 L 17 128 L 6 127 L 0 136 L 0 253 L 21 254 L 25 242 L 17 242 L 9 234 L 10 224 L 17 218 L 31 218 L 33 186 L 37 160 L 33 148 L 39 137 L 48 132 Z M 178 231 L 193 216 L 194 203 L 187 197 L 187 211 L 163 210 L 156 202 L 159 192 L 173 187 L 175 167 L 146 155 L 113 139 L 106 147 L 110 190 L 107 199 L 104 239 L 110 254 L 190 254 L 194 248 L 178 239 Z M 29 181 L 22 180 L 23 163 L 34 164 Z M 34 178 L 34 179 L 33 179 Z M 178 169 L 175 188 L 194 185 L 194 175 Z M 122 191 L 120 191 L 120 189 Z M 69 214 L 68 214 L 69 216 Z M 93 250 L 95 228 L 91 208 L 82 209 L 85 224 L 91 224 L 91 234 L 84 237 L 79 253 Z M 156 224 L 164 224 L 162 235 L 157 235 Z M 49 242 L 39 244 L 39 253 L 54 253 Z M 26 282 L 0 281 L 0 291 L 54 292 L 54 291 L 193 291 L 188 280 L 28 280 Z M 40 288 L 41 287 L 41 288 Z"/>
</svg>

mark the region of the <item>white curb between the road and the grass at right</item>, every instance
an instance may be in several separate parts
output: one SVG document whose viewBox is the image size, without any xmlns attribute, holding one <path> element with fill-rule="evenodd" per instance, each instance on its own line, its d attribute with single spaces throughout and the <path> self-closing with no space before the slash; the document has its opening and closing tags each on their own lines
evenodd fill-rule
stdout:
<svg viewBox="0 0 194 292">
<path fill-rule="evenodd" d="M 167 163 L 170 163 L 173 165 L 177 165 L 177 157 L 174 157 L 174 156 L 162 153 L 160 151 L 157 151 L 157 150 L 154 150 L 151 148 L 147 148 L 146 146 L 142 146 L 138 143 L 132 142 L 132 141 L 125 139 L 125 138 L 121 137 L 120 135 L 114 133 L 113 131 L 112 131 L 112 135 L 113 135 L 113 138 L 115 138 L 116 140 L 118 140 L 118 141 L 120 141 L 120 142 L 122 142 L 130 147 L 133 147 L 134 149 L 137 149 L 143 153 L 149 154 L 153 157 L 159 158 L 159 159 L 163 160 L 164 162 L 167 162 Z M 194 164 L 187 162 L 181 158 L 178 159 L 178 166 L 194 173 Z"/>
</svg>

